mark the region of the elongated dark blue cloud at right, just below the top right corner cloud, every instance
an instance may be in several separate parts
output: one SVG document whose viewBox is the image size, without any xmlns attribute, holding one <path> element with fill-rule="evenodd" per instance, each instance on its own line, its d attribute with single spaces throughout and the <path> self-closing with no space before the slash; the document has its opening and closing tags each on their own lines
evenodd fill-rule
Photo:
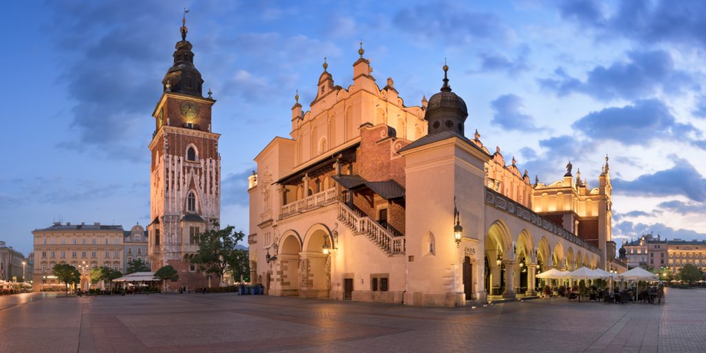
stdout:
<svg viewBox="0 0 706 353">
<path fill-rule="evenodd" d="M 627 61 L 592 68 L 585 82 L 560 67 L 554 78 L 539 79 L 539 85 L 560 97 L 580 92 L 598 100 L 635 100 L 657 92 L 678 95 L 693 85 L 689 74 L 676 69 L 671 55 L 663 50 L 632 51 L 627 56 Z"/>
</svg>

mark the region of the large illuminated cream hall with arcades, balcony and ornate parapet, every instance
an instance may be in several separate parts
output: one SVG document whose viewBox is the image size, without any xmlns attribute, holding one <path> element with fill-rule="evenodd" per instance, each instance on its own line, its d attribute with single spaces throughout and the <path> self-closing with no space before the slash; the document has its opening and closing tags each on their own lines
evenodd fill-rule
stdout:
<svg viewBox="0 0 706 353">
<path fill-rule="evenodd" d="M 255 157 L 253 282 L 277 296 L 459 306 L 534 295 L 549 268 L 614 261 L 607 160 L 593 189 L 570 165 L 532 184 L 465 136 L 448 66 L 441 91 L 409 107 L 359 54 L 348 88 L 324 63 L 309 111 L 297 95 L 289 138 Z"/>
</svg>

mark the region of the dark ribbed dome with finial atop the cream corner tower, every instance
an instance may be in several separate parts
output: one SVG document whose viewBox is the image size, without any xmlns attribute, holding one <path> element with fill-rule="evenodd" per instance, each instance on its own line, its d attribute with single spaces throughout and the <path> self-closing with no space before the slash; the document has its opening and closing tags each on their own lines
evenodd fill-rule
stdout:
<svg viewBox="0 0 706 353">
<path fill-rule="evenodd" d="M 450 131 L 464 136 L 464 126 L 468 116 L 466 102 L 451 92 L 447 77 L 448 66 L 443 66 L 443 86 L 441 91 L 429 98 L 424 119 L 429 122 L 428 132 L 441 133 Z"/>
</svg>

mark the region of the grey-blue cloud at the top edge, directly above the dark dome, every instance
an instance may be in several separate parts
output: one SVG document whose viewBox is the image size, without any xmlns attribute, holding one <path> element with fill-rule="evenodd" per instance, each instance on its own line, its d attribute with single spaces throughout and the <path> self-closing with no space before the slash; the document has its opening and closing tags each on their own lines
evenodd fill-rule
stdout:
<svg viewBox="0 0 706 353">
<path fill-rule="evenodd" d="M 433 1 L 395 14 L 397 28 L 423 42 L 464 45 L 479 40 L 507 42 L 514 37 L 497 15 L 471 11 L 455 1 Z"/>
</svg>

